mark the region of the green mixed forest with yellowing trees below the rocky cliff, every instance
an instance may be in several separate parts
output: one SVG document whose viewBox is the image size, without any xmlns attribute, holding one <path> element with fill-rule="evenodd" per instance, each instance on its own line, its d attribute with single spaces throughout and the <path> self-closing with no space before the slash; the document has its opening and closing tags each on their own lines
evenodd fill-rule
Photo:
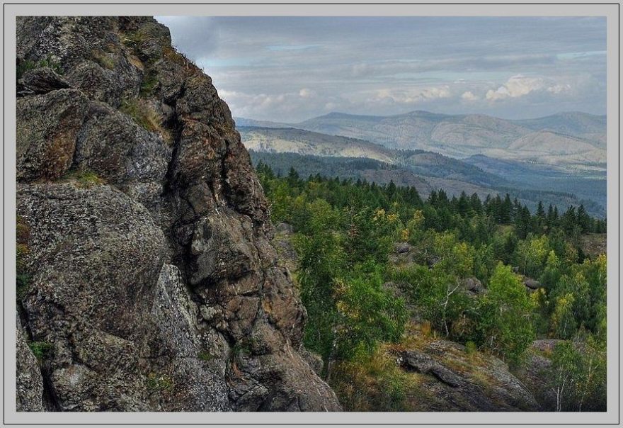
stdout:
<svg viewBox="0 0 623 428">
<path fill-rule="evenodd" d="M 414 324 L 511 371 L 535 339 L 559 339 L 542 373 L 550 410 L 605 410 L 606 257 L 581 242 L 606 220 L 583 205 L 532 213 L 508 194 L 421 196 L 393 182 L 278 176 L 263 162 L 257 172 L 273 223 L 292 227 L 304 345 L 346 410 L 408 410 L 396 408 L 401 378 L 375 359 L 409 342 Z M 396 260 L 400 246 L 412 260 Z M 466 281 L 486 292 L 470 295 Z"/>
</svg>

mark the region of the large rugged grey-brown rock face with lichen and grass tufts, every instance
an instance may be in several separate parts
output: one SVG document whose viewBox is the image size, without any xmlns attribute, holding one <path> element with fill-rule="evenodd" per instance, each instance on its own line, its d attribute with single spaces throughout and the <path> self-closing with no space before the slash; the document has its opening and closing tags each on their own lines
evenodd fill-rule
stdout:
<svg viewBox="0 0 623 428">
<path fill-rule="evenodd" d="M 18 410 L 340 410 L 210 77 L 152 18 L 17 39 Z"/>
</svg>

